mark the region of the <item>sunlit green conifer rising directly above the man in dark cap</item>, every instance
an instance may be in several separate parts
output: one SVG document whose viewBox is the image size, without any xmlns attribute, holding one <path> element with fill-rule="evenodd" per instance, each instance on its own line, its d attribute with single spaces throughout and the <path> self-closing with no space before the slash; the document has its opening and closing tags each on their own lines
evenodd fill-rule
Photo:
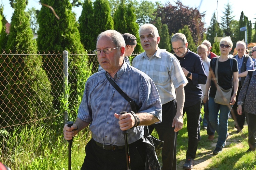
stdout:
<svg viewBox="0 0 256 170">
<path fill-rule="evenodd" d="M 125 0 L 120 1 L 114 13 L 114 29 L 121 34 L 130 33 L 137 38 L 137 46 L 134 52 L 142 52 L 143 49 L 139 40 L 139 25 L 136 22 L 136 13 L 133 3 Z"/>
</svg>

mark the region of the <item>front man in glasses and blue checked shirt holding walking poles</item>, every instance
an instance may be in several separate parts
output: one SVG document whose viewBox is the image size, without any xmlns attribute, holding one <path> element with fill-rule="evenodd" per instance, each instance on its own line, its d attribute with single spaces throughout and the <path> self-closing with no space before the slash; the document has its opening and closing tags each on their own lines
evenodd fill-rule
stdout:
<svg viewBox="0 0 256 170">
<path fill-rule="evenodd" d="M 125 40 L 120 33 L 108 30 L 97 39 L 94 53 L 104 69 L 88 78 L 75 123 L 63 128 L 66 140 L 89 126 L 92 139 L 85 147 L 83 170 L 127 169 L 125 140 L 128 130 L 130 164 L 144 170 L 146 147 L 144 125 L 161 122 L 161 102 L 154 82 L 145 73 L 124 62 Z M 140 107 L 132 109 L 108 79 L 115 83 Z M 120 115 L 120 112 L 127 112 Z"/>
</svg>

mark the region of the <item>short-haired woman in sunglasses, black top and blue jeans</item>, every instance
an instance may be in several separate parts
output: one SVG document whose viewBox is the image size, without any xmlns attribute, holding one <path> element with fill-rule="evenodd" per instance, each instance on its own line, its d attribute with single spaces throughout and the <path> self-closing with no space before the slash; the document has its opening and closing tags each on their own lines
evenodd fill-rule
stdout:
<svg viewBox="0 0 256 170">
<path fill-rule="evenodd" d="M 210 89 L 209 98 L 207 95 L 205 95 L 203 98 L 203 102 L 205 103 L 209 100 L 210 123 L 218 133 L 216 148 L 213 151 L 214 155 L 220 153 L 226 145 L 226 139 L 228 138 L 228 115 L 230 113 L 232 105 L 236 101 L 238 90 L 237 60 L 228 56 L 229 52 L 233 47 L 233 43 L 230 37 L 224 37 L 221 39 L 221 42 L 219 44 L 221 56 L 218 57 L 218 85 L 227 90 L 232 88 L 233 83 L 233 91 L 229 105 L 215 103 L 214 97 L 217 90 L 215 67 L 217 57 L 213 58 L 210 62 L 209 76 L 205 87 L 205 94 L 207 94 L 208 90 Z"/>
</svg>

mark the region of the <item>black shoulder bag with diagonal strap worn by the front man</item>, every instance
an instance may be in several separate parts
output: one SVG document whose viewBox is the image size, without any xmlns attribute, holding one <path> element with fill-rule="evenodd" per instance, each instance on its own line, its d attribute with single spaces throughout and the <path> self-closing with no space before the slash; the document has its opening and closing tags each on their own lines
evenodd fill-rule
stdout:
<svg viewBox="0 0 256 170">
<path fill-rule="evenodd" d="M 134 113 L 138 113 L 137 110 L 139 110 L 140 107 L 129 96 L 127 96 L 125 92 L 119 86 L 117 86 L 117 84 L 111 78 L 109 78 L 106 73 L 105 76 L 110 84 L 119 92 L 119 94 L 130 103 L 132 111 Z M 163 141 L 150 135 L 148 131 L 148 126 L 144 126 L 143 142 L 146 145 L 147 152 L 145 170 L 161 170 L 161 166 L 158 162 L 158 156 L 161 153 Z"/>
</svg>

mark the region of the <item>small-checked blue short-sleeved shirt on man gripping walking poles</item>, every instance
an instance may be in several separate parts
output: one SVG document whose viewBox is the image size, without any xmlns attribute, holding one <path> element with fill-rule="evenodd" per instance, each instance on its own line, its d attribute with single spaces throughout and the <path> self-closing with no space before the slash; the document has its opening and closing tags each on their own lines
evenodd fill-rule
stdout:
<svg viewBox="0 0 256 170">
<path fill-rule="evenodd" d="M 90 122 L 89 128 L 95 141 L 123 146 L 124 135 L 114 113 L 131 112 L 131 106 L 106 79 L 105 73 L 102 70 L 88 78 L 77 117 L 84 122 Z M 154 82 L 145 73 L 124 62 L 113 80 L 141 107 L 138 113 L 150 113 L 161 122 L 160 97 Z M 129 143 L 143 137 L 143 127 L 137 126 L 128 130 Z"/>
</svg>

